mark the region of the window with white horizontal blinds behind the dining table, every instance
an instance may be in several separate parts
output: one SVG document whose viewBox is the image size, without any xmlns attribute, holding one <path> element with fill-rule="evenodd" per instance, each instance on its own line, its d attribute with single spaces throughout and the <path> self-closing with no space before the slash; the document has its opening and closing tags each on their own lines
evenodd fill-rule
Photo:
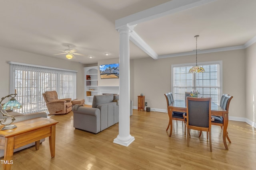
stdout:
<svg viewBox="0 0 256 170">
<path fill-rule="evenodd" d="M 198 91 L 198 97 L 211 97 L 219 103 L 222 94 L 222 61 L 199 63 L 204 73 L 188 73 L 194 64 L 172 65 L 172 92 L 175 100 L 185 100 L 185 92 Z"/>
</svg>

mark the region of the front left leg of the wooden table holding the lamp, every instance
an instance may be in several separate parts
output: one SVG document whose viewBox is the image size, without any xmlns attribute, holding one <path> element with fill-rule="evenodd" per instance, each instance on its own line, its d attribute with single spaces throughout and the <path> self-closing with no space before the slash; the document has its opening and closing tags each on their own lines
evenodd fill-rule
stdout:
<svg viewBox="0 0 256 170">
<path fill-rule="evenodd" d="M 6 138 L 5 149 L 4 149 L 4 170 L 11 169 L 13 149 L 14 149 L 14 137 Z"/>
</svg>

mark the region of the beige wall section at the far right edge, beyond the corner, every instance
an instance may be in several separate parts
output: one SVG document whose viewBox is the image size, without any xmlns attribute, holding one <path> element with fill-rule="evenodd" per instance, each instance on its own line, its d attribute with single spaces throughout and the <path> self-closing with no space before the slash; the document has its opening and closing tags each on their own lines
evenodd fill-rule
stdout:
<svg viewBox="0 0 256 170">
<path fill-rule="evenodd" d="M 246 49 L 246 118 L 255 123 L 256 106 L 256 43 Z M 251 123 L 250 123 L 251 124 Z M 255 127 L 255 126 L 254 126 Z"/>
</svg>

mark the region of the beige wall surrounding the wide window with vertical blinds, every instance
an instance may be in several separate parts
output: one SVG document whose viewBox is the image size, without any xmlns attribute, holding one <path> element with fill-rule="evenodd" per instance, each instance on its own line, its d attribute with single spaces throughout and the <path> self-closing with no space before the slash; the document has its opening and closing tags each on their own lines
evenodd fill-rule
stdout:
<svg viewBox="0 0 256 170">
<path fill-rule="evenodd" d="M 18 51 L 0 47 L 0 72 L 1 72 L 1 88 L 0 96 L 7 96 L 9 94 L 10 84 L 10 66 L 9 61 L 36 64 L 41 66 L 49 66 L 56 68 L 64 68 L 69 70 L 77 70 L 77 98 L 84 98 L 84 65 L 68 60 L 56 59 L 53 57 L 46 57 L 42 55 L 36 55 L 32 53 L 26 53 L 24 51 Z"/>
</svg>

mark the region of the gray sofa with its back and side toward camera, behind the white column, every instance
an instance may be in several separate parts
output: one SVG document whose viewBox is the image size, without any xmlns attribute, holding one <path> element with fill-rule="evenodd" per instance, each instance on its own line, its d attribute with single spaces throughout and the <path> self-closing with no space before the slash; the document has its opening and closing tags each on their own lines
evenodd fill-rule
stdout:
<svg viewBox="0 0 256 170">
<path fill-rule="evenodd" d="M 118 123 L 118 101 L 119 95 L 95 95 L 92 101 L 92 108 L 84 107 L 82 105 L 74 106 L 72 108 L 74 113 L 74 128 L 92 133 L 99 133 Z"/>
</svg>

